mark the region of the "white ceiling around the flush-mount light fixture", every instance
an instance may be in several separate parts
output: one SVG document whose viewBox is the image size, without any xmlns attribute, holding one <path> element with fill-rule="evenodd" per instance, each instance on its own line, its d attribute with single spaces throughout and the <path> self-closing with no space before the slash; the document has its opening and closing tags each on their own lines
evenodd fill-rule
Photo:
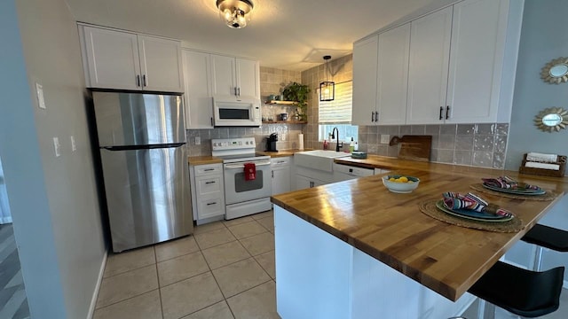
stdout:
<svg viewBox="0 0 568 319">
<path fill-rule="evenodd" d="M 303 71 L 351 53 L 375 30 L 455 0 L 252 0 L 251 22 L 226 27 L 216 0 L 66 0 L 75 19 L 183 41 L 204 51 L 257 58 L 261 66 Z"/>
</svg>

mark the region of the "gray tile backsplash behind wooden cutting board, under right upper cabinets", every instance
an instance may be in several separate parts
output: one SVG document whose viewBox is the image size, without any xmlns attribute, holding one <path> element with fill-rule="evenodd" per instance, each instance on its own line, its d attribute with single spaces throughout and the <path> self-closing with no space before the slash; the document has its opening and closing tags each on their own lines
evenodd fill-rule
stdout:
<svg viewBox="0 0 568 319">
<path fill-rule="evenodd" d="M 431 135 L 433 162 L 504 168 L 509 124 L 359 126 L 359 150 L 396 157 L 398 146 L 380 144 L 382 134 Z"/>
</svg>

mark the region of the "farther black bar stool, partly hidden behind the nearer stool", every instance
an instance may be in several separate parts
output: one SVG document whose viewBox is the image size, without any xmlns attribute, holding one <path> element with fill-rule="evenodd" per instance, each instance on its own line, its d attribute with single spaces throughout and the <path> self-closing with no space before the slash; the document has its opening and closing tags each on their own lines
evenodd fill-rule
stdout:
<svg viewBox="0 0 568 319">
<path fill-rule="evenodd" d="M 568 252 L 568 231 L 558 230 L 553 227 L 536 224 L 529 230 L 525 237 L 522 237 L 526 243 L 538 245 L 536 254 L 534 255 L 534 270 L 539 271 L 542 266 L 542 247 L 555 250 L 556 252 Z"/>
</svg>

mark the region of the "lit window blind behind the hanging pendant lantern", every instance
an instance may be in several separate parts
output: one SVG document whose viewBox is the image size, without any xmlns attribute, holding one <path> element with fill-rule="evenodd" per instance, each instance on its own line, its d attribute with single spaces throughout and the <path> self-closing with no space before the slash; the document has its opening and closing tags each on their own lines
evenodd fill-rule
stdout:
<svg viewBox="0 0 568 319">
<path fill-rule="evenodd" d="M 320 124 L 351 123 L 352 88 L 351 81 L 335 83 L 335 99 L 319 101 Z"/>
</svg>

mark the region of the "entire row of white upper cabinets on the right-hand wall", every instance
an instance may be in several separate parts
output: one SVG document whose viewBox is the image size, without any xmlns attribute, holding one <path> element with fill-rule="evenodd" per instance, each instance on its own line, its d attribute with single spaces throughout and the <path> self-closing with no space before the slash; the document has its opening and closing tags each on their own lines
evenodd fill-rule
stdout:
<svg viewBox="0 0 568 319">
<path fill-rule="evenodd" d="M 465 0 L 432 12 L 411 21 L 409 33 L 404 25 L 379 34 L 377 62 L 367 57 L 367 68 L 357 60 L 365 40 L 355 43 L 353 122 L 509 121 L 522 9 L 523 1 L 517 0 Z M 376 89 L 357 89 L 374 74 Z M 370 99 L 375 99 L 373 116 L 368 113 Z M 364 114 L 355 116 L 359 112 Z"/>
</svg>

